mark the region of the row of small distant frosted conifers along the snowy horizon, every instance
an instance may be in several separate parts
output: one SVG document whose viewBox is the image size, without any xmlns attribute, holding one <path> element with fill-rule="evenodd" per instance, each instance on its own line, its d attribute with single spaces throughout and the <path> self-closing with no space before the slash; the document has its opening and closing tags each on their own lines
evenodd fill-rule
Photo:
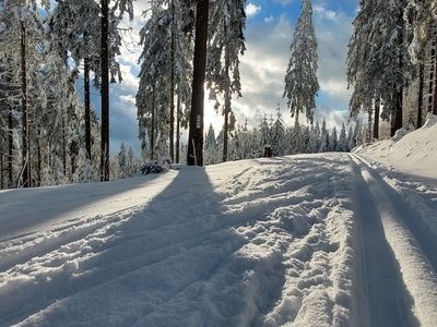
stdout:
<svg viewBox="0 0 437 327">
<path fill-rule="evenodd" d="M 277 110 L 276 119 L 264 116 L 256 128 L 249 128 L 247 122 L 237 124 L 229 140 L 229 159 L 252 159 L 263 157 L 265 146 L 272 148 L 273 156 L 287 156 L 297 154 L 317 154 L 327 152 L 350 152 L 356 146 L 366 143 L 365 125 L 359 122 L 350 126 L 343 123 L 338 133 L 336 128 L 327 129 L 323 120 L 315 125 L 300 125 L 298 122 L 293 128 L 286 128 L 281 112 Z M 205 136 L 204 158 L 206 165 L 223 162 L 221 157 L 223 147 L 223 131 L 215 136 L 212 125 Z"/>
</svg>

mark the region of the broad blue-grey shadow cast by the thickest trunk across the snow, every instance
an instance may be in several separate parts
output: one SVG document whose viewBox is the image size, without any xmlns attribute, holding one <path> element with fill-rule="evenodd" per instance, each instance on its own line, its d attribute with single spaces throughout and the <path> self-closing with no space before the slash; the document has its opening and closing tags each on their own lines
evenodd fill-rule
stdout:
<svg viewBox="0 0 437 327">
<path fill-rule="evenodd" d="M 48 306 L 45 325 L 259 323 L 281 296 L 284 267 L 251 253 L 256 244 L 238 229 L 256 219 L 229 213 L 223 197 L 204 168 L 184 167 L 142 211 L 81 239 L 74 268 L 26 286 L 3 306 L 20 305 L 20 314 L 3 323 Z"/>
</svg>

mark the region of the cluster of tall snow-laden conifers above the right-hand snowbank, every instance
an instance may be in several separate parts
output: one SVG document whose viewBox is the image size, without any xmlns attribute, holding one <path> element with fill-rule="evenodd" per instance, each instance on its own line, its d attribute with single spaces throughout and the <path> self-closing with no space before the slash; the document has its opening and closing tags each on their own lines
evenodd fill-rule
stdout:
<svg viewBox="0 0 437 327">
<path fill-rule="evenodd" d="M 350 110 L 352 118 L 368 114 L 374 138 L 379 137 L 380 119 L 390 122 L 391 135 L 411 120 L 421 126 L 424 99 L 437 113 L 436 10 L 434 0 L 359 2 L 347 55 L 347 80 L 354 89 Z M 416 117 L 405 117 L 405 98 L 415 84 Z"/>
</svg>

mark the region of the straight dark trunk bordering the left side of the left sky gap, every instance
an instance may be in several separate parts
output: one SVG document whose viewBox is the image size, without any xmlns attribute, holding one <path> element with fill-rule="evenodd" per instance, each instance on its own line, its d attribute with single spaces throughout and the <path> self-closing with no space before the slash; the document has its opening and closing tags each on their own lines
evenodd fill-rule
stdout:
<svg viewBox="0 0 437 327">
<path fill-rule="evenodd" d="M 101 181 L 109 181 L 109 0 L 101 0 L 102 9 L 102 142 L 101 142 Z"/>
</svg>

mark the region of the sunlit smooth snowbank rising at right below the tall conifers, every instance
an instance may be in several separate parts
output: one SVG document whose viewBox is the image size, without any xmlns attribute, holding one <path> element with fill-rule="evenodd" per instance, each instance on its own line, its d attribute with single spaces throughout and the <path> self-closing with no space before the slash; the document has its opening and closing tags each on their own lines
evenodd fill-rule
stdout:
<svg viewBox="0 0 437 327">
<path fill-rule="evenodd" d="M 394 137 L 397 138 L 397 137 Z M 359 147 L 357 154 L 415 175 L 437 181 L 437 116 L 400 140 L 386 140 Z"/>
</svg>

